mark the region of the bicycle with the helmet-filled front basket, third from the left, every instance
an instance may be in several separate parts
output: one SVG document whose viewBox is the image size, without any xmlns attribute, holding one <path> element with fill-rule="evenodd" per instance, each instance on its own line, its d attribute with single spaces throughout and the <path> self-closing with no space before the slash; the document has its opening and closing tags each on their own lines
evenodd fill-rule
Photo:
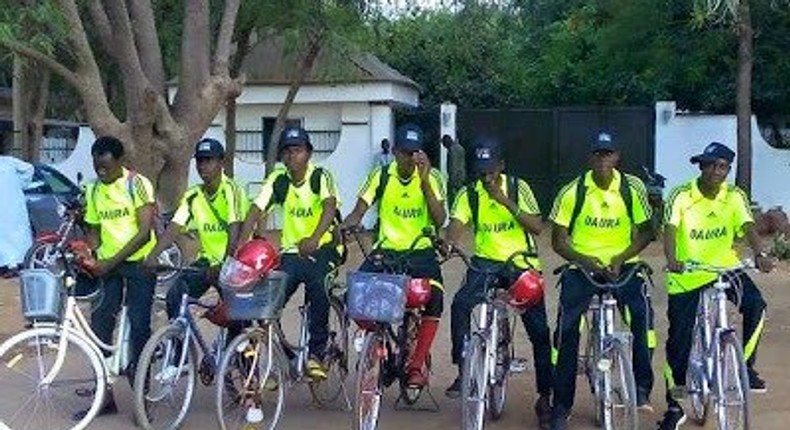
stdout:
<svg viewBox="0 0 790 430">
<path fill-rule="evenodd" d="M 220 428 L 274 429 L 283 414 L 285 388 L 307 383 L 313 400 L 328 406 L 343 395 L 346 409 L 348 374 L 348 320 L 341 299 L 342 292 L 334 282 L 335 272 L 327 276 L 329 294 L 329 337 L 323 356 L 327 378 L 312 379 L 307 375 L 310 357 L 309 307 L 299 307 L 300 326 L 296 344 L 289 343 L 283 333 L 280 313 L 285 302 L 287 274 L 272 271 L 250 293 L 227 292 L 229 317 L 249 320 L 252 326 L 235 337 L 226 349 L 220 364 L 216 407 Z M 220 280 L 222 286 L 222 281 Z"/>
</svg>

